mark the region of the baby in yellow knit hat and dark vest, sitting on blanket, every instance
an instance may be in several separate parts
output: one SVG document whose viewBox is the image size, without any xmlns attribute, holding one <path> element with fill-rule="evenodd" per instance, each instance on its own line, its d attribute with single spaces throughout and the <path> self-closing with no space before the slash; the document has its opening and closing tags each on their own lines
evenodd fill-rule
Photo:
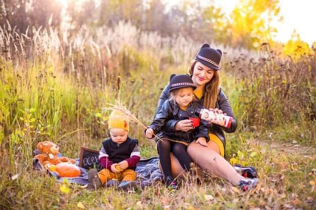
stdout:
<svg viewBox="0 0 316 210">
<path fill-rule="evenodd" d="M 109 118 L 111 138 L 102 142 L 99 163 L 103 169 L 88 172 L 89 188 L 97 189 L 107 181 L 115 178 L 122 181 L 118 186 L 121 190 L 136 190 L 136 164 L 140 160 L 137 139 L 128 134 L 128 118 L 119 112 L 113 112 Z"/>
</svg>

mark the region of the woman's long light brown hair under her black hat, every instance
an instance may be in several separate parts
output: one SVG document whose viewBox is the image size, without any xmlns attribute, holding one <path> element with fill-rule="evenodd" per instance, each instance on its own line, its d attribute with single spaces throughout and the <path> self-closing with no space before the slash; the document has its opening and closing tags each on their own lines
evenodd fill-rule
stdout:
<svg viewBox="0 0 316 210">
<path fill-rule="evenodd" d="M 197 60 L 193 59 L 189 63 L 188 66 L 188 74 L 193 75 L 193 70 L 195 63 L 198 62 Z M 212 80 L 204 85 L 203 89 L 203 106 L 207 109 L 215 108 L 217 96 L 219 94 L 219 87 L 220 87 L 220 74 L 219 71 L 214 70 L 214 76 Z"/>
</svg>

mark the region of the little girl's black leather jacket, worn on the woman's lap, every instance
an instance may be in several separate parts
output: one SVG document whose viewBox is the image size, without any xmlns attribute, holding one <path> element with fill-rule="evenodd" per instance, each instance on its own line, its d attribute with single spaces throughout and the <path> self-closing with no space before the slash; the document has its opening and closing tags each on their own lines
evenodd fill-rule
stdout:
<svg viewBox="0 0 316 210">
<path fill-rule="evenodd" d="M 184 142 L 186 144 L 190 144 L 194 140 L 197 140 L 198 137 L 205 137 L 206 142 L 208 142 L 208 127 L 210 125 L 206 120 L 200 120 L 198 127 L 187 132 L 182 130 L 175 131 L 174 129 L 168 129 L 168 131 L 161 129 L 169 120 L 175 120 L 178 122 L 180 120 L 189 119 L 189 117 L 196 117 L 195 110 L 202 108 L 204 107 L 198 102 L 192 101 L 184 111 L 180 109 L 178 105 L 174 104 L 173 100 L 167 100 L 162 105 L 160 111 L 155 115 L 155 119 L 148 128 L 152 128 L 155 134 L 163 131 L 159 137 L 168 138 L 174 142 Z M 166 128 L 166 126 L 164 128 Z"/>
</svg>

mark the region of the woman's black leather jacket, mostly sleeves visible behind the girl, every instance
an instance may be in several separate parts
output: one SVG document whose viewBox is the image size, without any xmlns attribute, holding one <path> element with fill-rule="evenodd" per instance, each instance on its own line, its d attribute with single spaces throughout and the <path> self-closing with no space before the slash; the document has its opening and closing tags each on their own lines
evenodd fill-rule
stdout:
<svg viewBox="0 0 316 210">
<path fill-rule="evenodd" d="M 158 105 L 157 105 L 157 109 L 154 115 L 154 118 L 156 117 L 157 113 L 161 110 L 163 104 L 165 103 L 166 100 L 168 100 L 170 97 L 170 93 L 169 93 L 169 84 L 165 87 L 165 89 L 163 90 Z M 197 99 L 199 104 L 203 104 L 203 97 L 201 99 Z M 221 141 L 223 142 L 224 145 L 224 151 L 226 152 L 226 141 L 225 141 L 225 135 L 224 132 L 228 132 L 228 133 L 233 133 L 235 132 L 235 130 L 237 129 L 237 120 L 233 114 L 232 108 L 228 102 L 227 97 L 225 96 L 225 94 L 222 91 L 222 88 L 219 88 L 219 94 L 217 97 L 217 101 L 216 101 L 216 108 L 221 109 L 223 111 L 223 113 L 226 113 L 228 116 L 232 117 L 232 123 L 231 126 L 229 128 L 221 126 L 221 125 L 217 125 L 214 124 L 209 127 L 209 129 L 212 129 L 213 132 L 221 139 Z M 163 129 L 165 129 L 166 132 L 170 132 L 171 130 L 174 130 L 175 124 L 178 122 L 179 120 L 169 120 L 168 122 L 166 122 L 165 126 Z"/>
</svg>

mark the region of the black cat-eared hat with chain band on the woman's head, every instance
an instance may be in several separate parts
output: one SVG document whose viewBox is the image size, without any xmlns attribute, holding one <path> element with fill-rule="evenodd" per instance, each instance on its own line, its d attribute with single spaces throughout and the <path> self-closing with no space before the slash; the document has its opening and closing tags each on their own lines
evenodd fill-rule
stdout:
<svg viewBox="0 0 316 210">
<path fill-rule="evenodd" d="M 203 44 L 194 59 L 214 70 L 220 70 L 221 57 L 221 50 L 213 49 L 209 47 L 209 44 Z"/>
</svg>

